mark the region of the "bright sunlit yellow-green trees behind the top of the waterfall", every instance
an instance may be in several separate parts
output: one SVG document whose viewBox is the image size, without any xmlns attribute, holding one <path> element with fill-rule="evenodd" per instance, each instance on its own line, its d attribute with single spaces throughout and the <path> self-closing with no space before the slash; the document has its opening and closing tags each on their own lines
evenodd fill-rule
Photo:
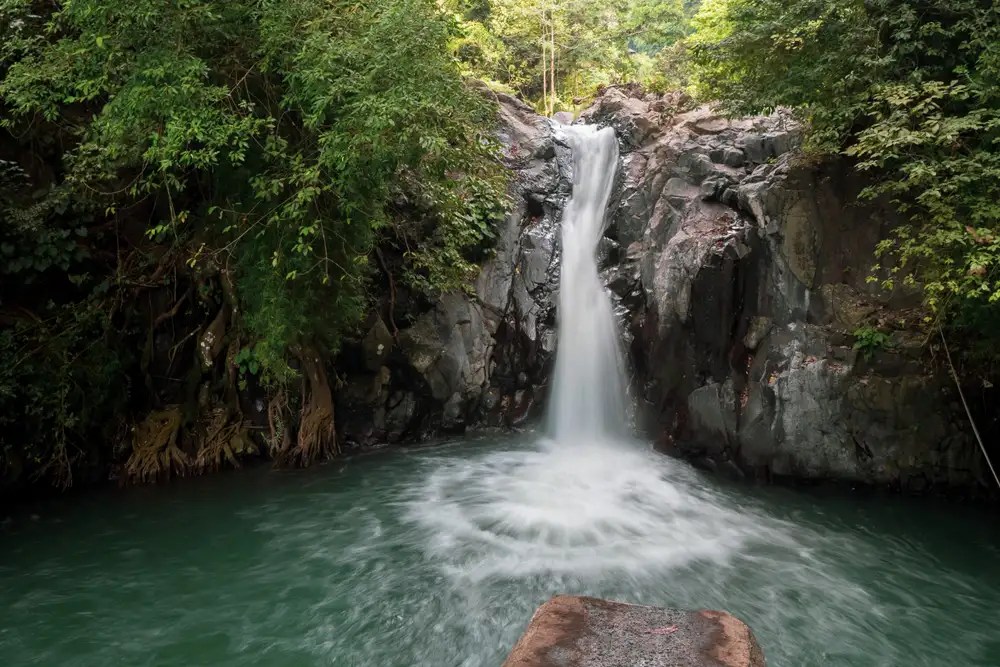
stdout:
<svg viewBox="0 0 1000 667">
<path fill-rule="evenodd" d="M 445 0 L 466 71 L 538 99 L 551 112 L 585 104 L 601 86 L 669 85 L 665 56 L 689 32 L 682 0 Z"/>
</svg>

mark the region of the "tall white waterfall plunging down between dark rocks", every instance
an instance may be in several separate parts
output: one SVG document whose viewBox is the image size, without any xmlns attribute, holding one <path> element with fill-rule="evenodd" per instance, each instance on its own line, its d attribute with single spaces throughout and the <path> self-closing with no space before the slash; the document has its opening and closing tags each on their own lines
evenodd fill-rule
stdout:
<svg viewBox="0 0 1000 667">
<path fill-rule="evenodd" d="M 559 338 L 549 429 L 557 442 L 607 440 L 625 431 L 624 361 L 597 245 L 618 168 L 611 128 L 560 128 L 573 150 L 573 191 L 563 211 Z"/>
</svg>

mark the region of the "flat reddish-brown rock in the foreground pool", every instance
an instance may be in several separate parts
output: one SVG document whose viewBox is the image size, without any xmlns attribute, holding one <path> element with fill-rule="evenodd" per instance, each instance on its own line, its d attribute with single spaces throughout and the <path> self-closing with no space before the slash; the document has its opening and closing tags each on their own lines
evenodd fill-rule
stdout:
<svg viewBox="0 0 1000 667">
<path fill-rule="evenodd" d="M 721 611 L 677 611 L 558 596 L 535 612 L 503 667 L 765 667 L 745 623 Z"/>
</svg>

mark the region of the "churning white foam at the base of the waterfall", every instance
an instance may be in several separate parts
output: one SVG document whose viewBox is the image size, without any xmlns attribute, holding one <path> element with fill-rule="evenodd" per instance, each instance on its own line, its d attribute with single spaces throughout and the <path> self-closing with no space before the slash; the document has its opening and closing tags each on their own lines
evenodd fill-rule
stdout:
<svg viewBox="0 0 1000 667">
<path fill-rule="evenodd" d="M 789 541 L 780 522 L 725 502 L 638 443 L 543 442 L 442 459 L 413 492 L 409 517 L 426 530 L 427 555 L 466 582 L 648 576 L 726 561 L 752 539 Z"/>
</svg>

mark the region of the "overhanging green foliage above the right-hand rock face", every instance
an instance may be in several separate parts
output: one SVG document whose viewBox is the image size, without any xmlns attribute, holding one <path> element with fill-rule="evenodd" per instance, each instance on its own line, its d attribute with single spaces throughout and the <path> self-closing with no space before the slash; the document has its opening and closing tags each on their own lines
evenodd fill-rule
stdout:
<svg viewBox="0 0 1000 667">
<path fill-rule="evenodd" d="M 778 106 L 846 153 L 906 224 L 874 273 L 923 286 L 986 370 L 1000 324 L 1000 6 L 993 0 L 708 0 L 688 52 L 701 95 Z M 873 263 L 876 260 L 873 259 Z M 881 271 L 880 271 L 881 270 Z"/>
</svg>

